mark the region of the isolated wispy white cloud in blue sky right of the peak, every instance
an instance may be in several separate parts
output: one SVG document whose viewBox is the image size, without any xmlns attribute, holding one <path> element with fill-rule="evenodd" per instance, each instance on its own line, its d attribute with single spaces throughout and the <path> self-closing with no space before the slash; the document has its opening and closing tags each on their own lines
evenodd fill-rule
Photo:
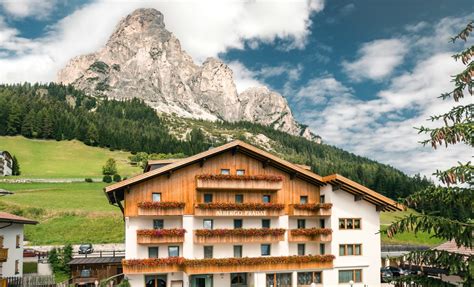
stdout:
<svg viewBox="0 0 474 287">
<path fill-rule="evenodd" d="M 342 66 L 354 81 L 382 80 L 402 63 L 407 52 L 407 44 L 401 39 L 375 40 L 362 45 L 357 60 L 344 61 Z"/>
</svg>

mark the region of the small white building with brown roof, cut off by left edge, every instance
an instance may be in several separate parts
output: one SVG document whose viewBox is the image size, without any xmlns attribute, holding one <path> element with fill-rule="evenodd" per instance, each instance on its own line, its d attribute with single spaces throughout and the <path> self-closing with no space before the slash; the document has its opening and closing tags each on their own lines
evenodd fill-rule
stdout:
<svg viewBox="0 0 474 287">
<path fill-rule="evenodd" d="M 23 276 L 23 226 L 37 223 L 0 211 L 0 278 Z"/>
</svg>

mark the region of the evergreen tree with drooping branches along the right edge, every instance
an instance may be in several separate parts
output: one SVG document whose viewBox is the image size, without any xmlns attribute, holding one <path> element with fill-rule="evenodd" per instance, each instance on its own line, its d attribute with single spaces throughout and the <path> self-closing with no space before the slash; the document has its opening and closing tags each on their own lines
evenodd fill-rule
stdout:
<svg viewBox="0 0 474 287">
<path fill-rule="evenodd" d="M 452 38 L 453 43 L 459 40 L 466 42 L 473 29 L 474 21 L 471 21 L 461 33 Z M 431 121 L 441 123 L 439 127 L 419 128 L 420 133 L 429 135 L 423 144 L 430 144 L 435 149 L 442 145 L 448 147 L 454 144 L 466 144 L 474 147 L 474 104 L 472 98 L 470 101 L 461 103 L 461 100 L 473 95 L 474 46 L 453 55 L 453 58 L 456 61 L 461 60 L 466 68 L 453 77 L 454 89 L 442 94 L 441 98 L 453 100 L 457 105 L 444 114 L 431 117 Z M 469 160 L 471 155 L 466 154 L 465 156 L 465 160 Z M 432 186 L 409 196 L 406 204 L 421 214 L 406 216 L 394 222 L 388 228 L 388 235 L 393 236 L 405 231 L 430 232 L 434 237 L 453 240 L 458 247 L 464 246 L 472 249 L 474 233 L 473 171 L 474 166 L 470 161 L 460 162 L 458 166 L 448 170 L 437 170 L 434 175 L 445 186 Z M 450 275 L 459 275 L 463 279 L 463 286 L 474 285 L 472 255 L 430 249 L 412 252 L 408 259 L 416 265 L 441 268 L 447 270 Z M 400 281 L 417 284 L 417 286 L 448 285 L 440 279 L 423 274 L 402 277 Z"/>
</svg>

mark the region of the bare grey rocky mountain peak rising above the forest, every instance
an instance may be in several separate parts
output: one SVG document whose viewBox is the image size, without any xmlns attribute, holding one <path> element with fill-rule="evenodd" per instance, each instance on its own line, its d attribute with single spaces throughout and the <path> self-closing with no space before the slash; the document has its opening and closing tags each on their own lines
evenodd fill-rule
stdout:
<svg viewBox="0 0 474 287">
<path fill-rule="evenodd" d="M 296 122 L 282 95 L 266 87 L 239 94 L 232 70 L 219 59 L 196 65 L 155 9 L 138 9 L 122 19 L 105 47 L 73 58 L 58 82 L 93 96 L 140 98 L 160 113 L 244 120 L 319 139 Z"/>
</svg>

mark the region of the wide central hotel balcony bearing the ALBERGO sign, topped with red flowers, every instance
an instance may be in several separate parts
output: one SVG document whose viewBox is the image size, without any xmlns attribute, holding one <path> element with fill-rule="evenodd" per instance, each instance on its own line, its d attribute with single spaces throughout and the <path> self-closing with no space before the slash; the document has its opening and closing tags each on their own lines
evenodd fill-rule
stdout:
<svg viewBox="0 0 474 287">
<path fill-rule="evenodd" d="M 278 203 L 199 203 L 195 216 L 280 216 L 285 208 Z"/>
</svg>

